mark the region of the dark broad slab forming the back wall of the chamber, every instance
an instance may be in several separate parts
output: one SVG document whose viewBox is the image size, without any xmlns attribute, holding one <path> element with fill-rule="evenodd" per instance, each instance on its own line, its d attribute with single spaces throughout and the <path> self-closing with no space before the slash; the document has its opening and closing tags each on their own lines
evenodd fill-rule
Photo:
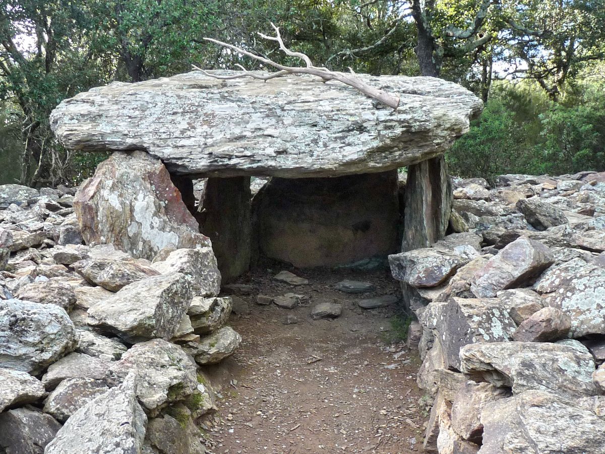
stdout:
<svg viewBox="0 0 605 454">
<path fill-rule="evenodd" d="M 348 265 L 399 249 L 394 170 L 273 178 L 255 196 L 253 206 L 260 254 L 298 268 Z"/>
</svg>

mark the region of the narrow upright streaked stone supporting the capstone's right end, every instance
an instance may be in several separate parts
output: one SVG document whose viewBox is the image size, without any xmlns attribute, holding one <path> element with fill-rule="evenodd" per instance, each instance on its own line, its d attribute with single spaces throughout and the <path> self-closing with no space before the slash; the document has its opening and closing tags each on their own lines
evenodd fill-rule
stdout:
<svg viewBox="0 0 605 454">
<path fill-rule="evenodd" d="M 427 248 L 443 238 L 452 198 L 443 155 L 408 166 L 402 252 Z"/>
</svg>

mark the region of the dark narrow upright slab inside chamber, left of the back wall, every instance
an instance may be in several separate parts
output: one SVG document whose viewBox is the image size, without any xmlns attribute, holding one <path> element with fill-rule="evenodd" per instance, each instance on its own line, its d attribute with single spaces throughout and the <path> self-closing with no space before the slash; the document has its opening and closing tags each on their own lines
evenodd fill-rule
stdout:
<svg viewBox="0 0 605 454">
<path fill-rule="evenodd" d="M 209 178 L 201 231 L 212 240 L 223 282 L 250 268 L 250 177 Z"/>
</svg>

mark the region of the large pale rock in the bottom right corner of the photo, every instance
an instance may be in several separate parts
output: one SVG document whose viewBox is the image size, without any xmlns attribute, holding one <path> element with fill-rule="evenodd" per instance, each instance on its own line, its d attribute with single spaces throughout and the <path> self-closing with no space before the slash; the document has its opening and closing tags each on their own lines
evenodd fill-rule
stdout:
<svg viewBox="0 0 605 454">
<path fill-rule="evenodd" d="M 481 413 L 481 454 L 601 453 L 605 421 L 541 390 L 489 403 Z"/>
</svg>

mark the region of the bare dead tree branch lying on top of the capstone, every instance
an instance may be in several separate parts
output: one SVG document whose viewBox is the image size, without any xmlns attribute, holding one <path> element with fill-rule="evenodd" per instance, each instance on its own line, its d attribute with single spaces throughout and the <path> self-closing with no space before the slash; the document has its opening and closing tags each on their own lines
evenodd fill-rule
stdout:
<svg viewBox="0 0 605 454">
<path fill-rule="evenodd" d="M 324 82 L 339 81 L 345 85 L 349 85 L 350 87 L 361 91 L 361 93 L 365 94 L 366 96 L 376 99 L 382 104 L 393 108 L 393 110 L 399 107 L 399 97 L 393 96 L 392 94 L 387 93 L 386 91 L 380 90 L 379 88 L 372 87 L 371 85 L 366 84 L 365 82 L 358 79 L 355 74 L 341 73 L 339 71 L 330 71 L 329 69 L 324 67 L 313 66 L 313 63 L 306 54 L 301 52 L 294 52 L 287 48 L 283 40 L 281 39 L 280 28 L 276 27 L 274 24 L 271 24 L 271 26 L 273 27 L 273 30 L 275 30 L 276 36 L 267 36 L 263 35 L 263 33 L 258 33 L 258 35 L 260 35 L 264 39 L 269 39 L 270 41 L 278 42 L 278 44 L 280 45 L 280 49 L 284 51 L 286 55 L 301 59 L 305 62 L 305 67 L 290 67 L 281 65 L 267 58 L 255 55 L 252 52 L 241 49 L 232 44 L 227 44 L 226 42 L 218 41 L 217 39 L 213 38 L 204 38 L 206 41 L 214 42 L 215 44 L 218 44 L 222 47 L 226 47 L 227 49 L 231 49 L 232 51 L 240 55 L 253 58 L 257 61 L 260 61 L 261 63 L 277 68 L 279 71 L 277 71 L 276 73 L 269 74 L 268 76 L 261 76 L 260 74 L 255 74 L 250 71 L 247 71 L 246 68 L 241 65 L 237 65 L 242 70 L 241 74 L 233 74 L 231 76 L 218 76 L 215 74 L 210 74 L 208 73 L 208 71 L 204 71 L 203 69 L 198 68 L 195 65 L 193 65 L 193 68 L 195 70 L 201 71 L 209 77 L 214 77 L 215 79 L 238 79 L 239 77 L 252 77 L 253 79 L 268 81 L 269 79 L 274 79 L 275 77 L 286 76 L 286 74 L 310 74 L 312 76 L 321 77 Z"/>
</svg>

